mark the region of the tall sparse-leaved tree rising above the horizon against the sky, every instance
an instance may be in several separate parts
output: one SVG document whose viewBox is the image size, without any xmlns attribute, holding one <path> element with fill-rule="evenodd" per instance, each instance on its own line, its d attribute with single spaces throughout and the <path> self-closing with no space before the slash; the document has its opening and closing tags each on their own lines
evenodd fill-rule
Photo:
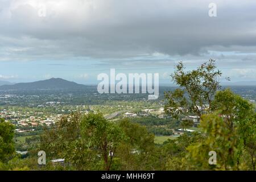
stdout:
<svg viewBox="0 0 256 182">
<path fill-rule="evenodd" d="M 220 88 L 218 78 L 222 73 L 216 69 L 215 60 L 210 59 L 193 71 L 185 71 L 182 62 L 176 66 L 171 75 L 172 80 L 180 88 L 174 92 L 166 92 L 168 103 L 164 109 L 172 117 L 178 118 L 180 114 L 195 113 L 201 116 L 209 113 L 216 90 Z"/>
</svg>

